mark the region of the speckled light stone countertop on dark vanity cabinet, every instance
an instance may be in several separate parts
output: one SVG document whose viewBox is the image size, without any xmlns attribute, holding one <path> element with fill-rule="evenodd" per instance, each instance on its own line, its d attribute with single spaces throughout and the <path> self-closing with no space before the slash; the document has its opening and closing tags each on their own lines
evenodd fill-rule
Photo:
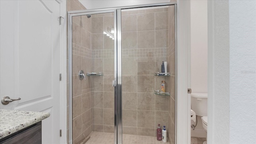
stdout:
<svg viewBox="0 0 256 144">
<path fill-rule="evenodd" d="M 47 112 L 28 112 L 0 109 L 0 139 L 50 116 Z"/>
</svg>

